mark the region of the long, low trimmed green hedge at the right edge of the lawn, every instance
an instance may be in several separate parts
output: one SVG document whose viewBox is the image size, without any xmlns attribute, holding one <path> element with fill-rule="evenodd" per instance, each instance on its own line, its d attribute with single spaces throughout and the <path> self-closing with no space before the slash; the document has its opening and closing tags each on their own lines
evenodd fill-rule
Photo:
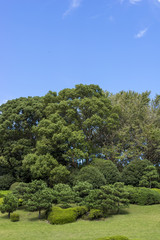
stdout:
<svg viewBox="0 0 160 240">
<path fill-rule="evenodd" d="M 129 201 L 138 205 L 153 205 L 160 203 L 160 193 L 149 189 L 139 187 L 126 187 L 129 193 Z"/>
</svg>

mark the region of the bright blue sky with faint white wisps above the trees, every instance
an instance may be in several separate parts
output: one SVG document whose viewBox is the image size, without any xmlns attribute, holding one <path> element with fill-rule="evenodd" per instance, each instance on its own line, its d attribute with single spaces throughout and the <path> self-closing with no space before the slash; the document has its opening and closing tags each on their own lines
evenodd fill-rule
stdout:
<svg viewBox="0 0 160 240">
<path fill-rule="evenodd" d="M 160 94 L 160 0 L 0 0 L 0 104 L 79 83 Z"/>
</svg>

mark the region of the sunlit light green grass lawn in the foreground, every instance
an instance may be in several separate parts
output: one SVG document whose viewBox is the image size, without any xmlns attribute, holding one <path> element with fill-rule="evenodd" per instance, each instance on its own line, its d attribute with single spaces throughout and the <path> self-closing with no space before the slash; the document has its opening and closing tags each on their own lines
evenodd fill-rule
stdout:
<svg viewBox="0 0 160 240">
<path fill-rule="evenodd" d="M 22 210 L 19 222 L 11 222 L 0 213 L 0 240 L 95 240 L 98 237 L 124 235 L 131 239 L 160 240 L 160 205 L 131 205 L 128 214 L 101 221 L 78 220 L 65 225 L 50 225 L 38 220 L 38 213 Z"/>
</svg>

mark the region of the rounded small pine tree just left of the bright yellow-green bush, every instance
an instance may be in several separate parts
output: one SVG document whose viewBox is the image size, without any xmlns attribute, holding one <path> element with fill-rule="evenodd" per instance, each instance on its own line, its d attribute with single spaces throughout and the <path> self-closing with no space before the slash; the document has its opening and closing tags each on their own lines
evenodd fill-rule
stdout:
<svg viewBox="0 0 160 240">
<path fill-rule="evenodd" d="M 41 210 L 47 210 L 52 206 L 53 191 L 42 180 L 35 180 L 25 188 L 23 199 L 27 210 L 38 211 L 40 218 Z"/>
</svg>

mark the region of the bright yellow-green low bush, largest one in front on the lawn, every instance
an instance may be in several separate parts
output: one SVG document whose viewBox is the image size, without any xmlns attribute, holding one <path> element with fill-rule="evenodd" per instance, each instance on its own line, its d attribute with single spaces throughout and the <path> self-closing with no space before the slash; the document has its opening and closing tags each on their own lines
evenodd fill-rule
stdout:
<svg viewBox="0 0 160 240">
<path fill-rule="evenodd" d="M 48 221 L 51 224 L 65 224 L 75 222 L 77 213 L 73 208 L 62 209 L 60 207 L 52 207 L 52 211 L 48 215 Z"/>
</svg>

